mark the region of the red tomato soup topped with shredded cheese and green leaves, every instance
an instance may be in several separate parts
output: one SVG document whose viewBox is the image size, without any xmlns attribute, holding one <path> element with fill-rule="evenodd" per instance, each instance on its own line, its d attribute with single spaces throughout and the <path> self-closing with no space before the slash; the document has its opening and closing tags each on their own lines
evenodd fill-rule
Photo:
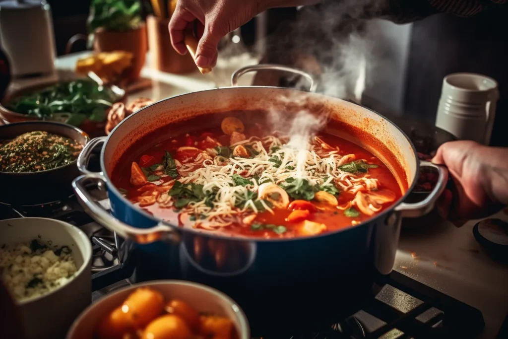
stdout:
<svg viewBox="0 0 508 339">
<path fill-rule="evenodd" d="M 305 141 L 234 117 L 120 161 L 112 180 L 131 202 L 170 223 L 256 238 L 356 226 L 402 195 L 390 169 L 352 142 L 324 133 Z"/>
</svg>

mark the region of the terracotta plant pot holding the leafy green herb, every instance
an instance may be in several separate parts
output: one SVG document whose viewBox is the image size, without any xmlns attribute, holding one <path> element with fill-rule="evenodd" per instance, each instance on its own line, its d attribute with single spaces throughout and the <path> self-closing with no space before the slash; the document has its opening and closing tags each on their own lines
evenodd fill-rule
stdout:
<svg viewBox="0 0 508 339">
<path fill-rule="evenodd" d="M 146 38 L 146 25 L 126 32 L 109 32 L 97 29 L 93 41 L 95 52 L 128 51 L 134 54 L 133 65 L 129 81 L 139 79 L 141 69 L 145 66 L 146 51 L 148 50 Z"/>
</svg>

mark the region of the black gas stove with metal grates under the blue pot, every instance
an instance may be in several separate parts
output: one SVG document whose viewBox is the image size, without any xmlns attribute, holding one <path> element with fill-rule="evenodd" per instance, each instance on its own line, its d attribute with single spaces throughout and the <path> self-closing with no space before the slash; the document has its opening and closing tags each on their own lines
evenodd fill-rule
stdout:
<svg viewBox="0 0 508 339">
<path fill-rule="evenodd" d="M 109 209 L 107 194 L 91 188 Z M 0 205 L 2 219 L 43 217 L 66 221 L 88 235 L 93 248 L 92 300 L 131 284 L 134 258 L 122 255 L 122 241 L 94 222 L 74 196 L 39 206 Z M 484 327 L 482 313 L 457 299 L 393 271 L 385 286 L 364 309 L 327 329 L 292 333 L 292 339 L 476 337 Z M 467 324 L 467 326 L 464 326 Z M 288 331 L 291 333 L 291 330 Z"/>
</svg>

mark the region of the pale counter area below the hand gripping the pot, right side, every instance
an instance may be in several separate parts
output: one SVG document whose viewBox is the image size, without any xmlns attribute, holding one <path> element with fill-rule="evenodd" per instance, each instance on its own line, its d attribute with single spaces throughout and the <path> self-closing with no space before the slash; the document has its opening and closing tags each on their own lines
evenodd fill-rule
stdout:
<svg viewBox="0 0 508 339">
<path fill-rule="evenodd" d="M 492 217 L 508 222 L 508 210 Z M 394 269 L 479 309 L 485 320 L 480 337 L 487 339 L 496 336 L 508 314 L 508 266 L 485 254 L 472 233 L 477 222 L 403 229 Z"/>
</svg>

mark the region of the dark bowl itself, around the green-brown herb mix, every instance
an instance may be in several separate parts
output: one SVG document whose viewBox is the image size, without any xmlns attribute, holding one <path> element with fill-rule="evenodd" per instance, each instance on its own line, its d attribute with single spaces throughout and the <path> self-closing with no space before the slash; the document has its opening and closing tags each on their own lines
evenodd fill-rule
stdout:
<svg viewBox="0 0 508 339">
<path fill-rule="evenodd" d="M 13 139 L 23 133 L 45 131 L 71 138 L 83 147 L 90 140 L 77 127 L 50 121 L 15 122 L 0 126 L 0 139 Z M 10 173 L 0 171 L 0 203 L 13 206 L 40 205 L 54 202 L 73 194 L 72 180 L 79 176 L 76 161 L 38 172 Z"/>
</svg>

